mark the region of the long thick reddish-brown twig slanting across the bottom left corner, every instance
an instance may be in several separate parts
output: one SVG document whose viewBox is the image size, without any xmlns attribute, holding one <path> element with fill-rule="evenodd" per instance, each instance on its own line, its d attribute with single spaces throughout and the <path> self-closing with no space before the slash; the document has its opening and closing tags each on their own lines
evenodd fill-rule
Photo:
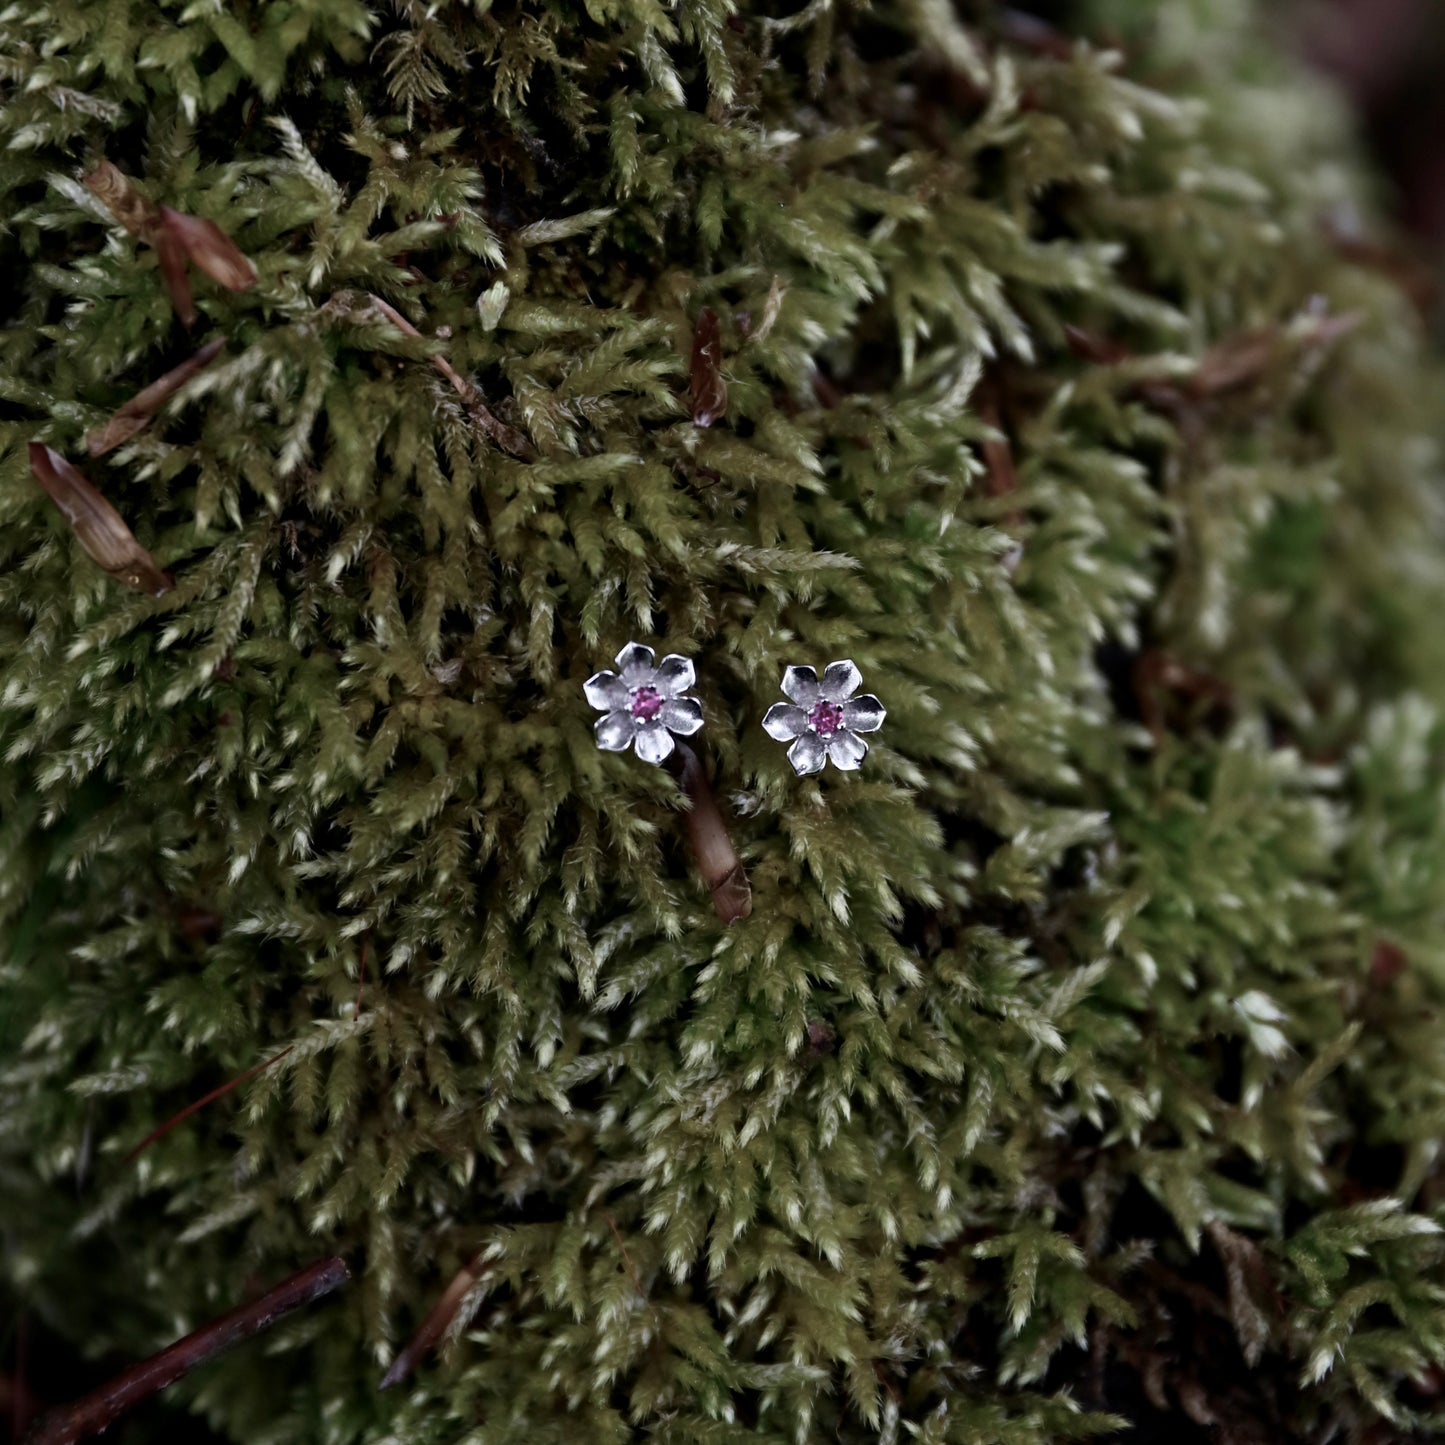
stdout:
<svg viewBox="0 0 1445 1445">
<path fill-rule="evenodd" d="M 335 1256 L 303 1269 L 299 1274 L 292 1274 L 260 1299 L 233 1309 L 210 1325 L 202 1325 L 74 1405 L 49 1410 L 26 1435 L 25 1445 L 74 1445 L 88 1435 L 98 1435 L 114 1425 L 126 1410 L 173 1384 L 197 1366 L 241 1340 L 270 1328 L 282 1315 L 289 1315 L 293 1309 L 340 1289 L 350 1277 L 351 1272 L 345 1261 Z"/>
</svg>

